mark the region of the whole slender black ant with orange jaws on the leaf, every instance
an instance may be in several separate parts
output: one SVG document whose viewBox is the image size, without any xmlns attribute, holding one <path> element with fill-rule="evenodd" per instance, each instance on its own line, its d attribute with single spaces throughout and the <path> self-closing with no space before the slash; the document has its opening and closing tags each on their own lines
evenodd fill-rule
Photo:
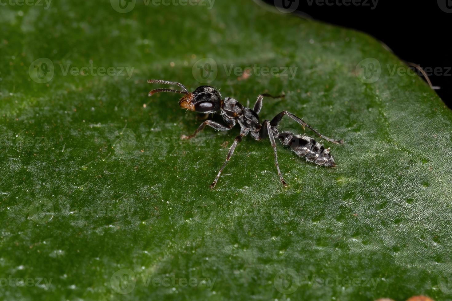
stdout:
<svg viewBox="0 0 452 301">
<path fill-rule="evenodd" d="M 212 120 L 205 120 L 199 125 L 198 129 L 189 136 L 183 135 L 182 139 L 190 139 L 193 138 L 198 132 L 202 131 L 206 125 L 214 128 L 215 130 L 231 130 L 235 123 L 238 123 L 240 126 L 240 135 L 235 137 L 234 143 L 231 145 L 229 152 L 226 157 L 226 162 L 224 162 L 220 171 L 217 174 L 217 177 L 213 181 L 210 188 L 214 188 L 217 185 L 217 181 L 220 178 L 221 172 L 226 166 L 226 163 L 231 159 L 232 154 L 234 153 L 234 149 L 242 141 L 242 137 L 250 134 L 256 140 L 263 140 L 265 138 L 270 139 L 270 143 L 273 147 L 273 152 L 275 154 L 275 163 L 276 169 L 278 170 L 278 176 L 281 180 L 282 185 L 287 186 L 286 182 L 282 178 L 281 171 L 278 166 L 278 155 L 276 152 L 276 143 L 275 138 L 279 138 L 284 147 L 290 147 L 292 150 L 299 156 L 304 157 L 308 162 L 314 162 L 320 166 L 331 166 L 335 167 L 333 157 L 330 155 L 330 150 L 325 149 L 323 145 L 315 142 L 314 139 L 307 136 L 301 135 L 293 135 L 290 132 L 278 132 L 278 124 L 282 119 L 282 116 L 287 115 L 293 120 L 297 121 L 303 129 L 305 126 L 310 130 L 314 131 L 319 137 L 336 144 L 343 144 L 343 140 L 334 140 L 324 135 L 320 134 L 318 131 L 314 130 L 311 126 L 309 126 L 306 122 L 293 115 L 288 111 L 282 111 L 277 116 L 275 116 L 272 121 L 264 120 L 262 124 L 259 122 L 259 112 L 262 108 L 262 99 L 264 97 L 272 97 L 272 98 L 281 98 L 284 95 L 279 96 L 271 96 L 269 94 L 260 94 L 257 97 L 257 101 L 254 104 L 253 110 L 250 108 L 244 107 L 240 102 L 236 101 L 234 98 L 226 97 L 224 100 L 221 100 L 221 94 L 215 88 L 211 86 L 201 86 L 196 88 L 192 93 L 189 93 L 187 88 L 184 87 L 181 83 L 169 82 L 166 80 L 158 80 L 158 79 L 150 79 L 147 81 L 148 83 L 165 83 L 169 85 L 178 85 L 182 88 L 183 91 L 178 91 L 174 89 L 166 89 L 160 88 L 155 89 L 149 92 L 149 96 L 152 96 L 155 93 L 159 92 L 172 92 L 172 93 L 180 93 L 185 94 L 179 100 L 179 106 L 188 109 L 190 111 L 195 111 L 198 113 L 210 114 L 220 111 L 220 115 L 225 121 L 226 125 L 222 125 L 218 122 Z"/>
</svg>

